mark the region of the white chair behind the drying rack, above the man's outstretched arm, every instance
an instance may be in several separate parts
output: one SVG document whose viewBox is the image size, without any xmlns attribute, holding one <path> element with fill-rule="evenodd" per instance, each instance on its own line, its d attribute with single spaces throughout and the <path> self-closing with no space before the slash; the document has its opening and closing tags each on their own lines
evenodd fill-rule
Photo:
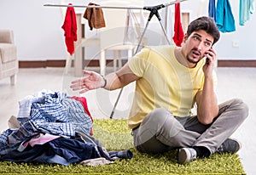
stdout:
<svg viewBox="0 0 256 175">
<path fill-rule="evenodd" d="M 100 3 L 102 6 L 111 7 L 129 7 L 134 6 L 129 1 L 104 1 Z M 127 52 L 128 59 L 131 58 L 134 48 L 137 44 L 124 41 L 125 38 L 125 21 L 127 17 L 127 9 L 125 8 L 102 8 L 104 14 L 104 20 L 106 27 L 100 31 L 100 69 L 101 74 L 106 73 L 106 53 L 108 51 L 113 52 L 113 71 L 117 68 L 117 59 L 119 59 L 119 66 L 122 65 L 121 53 L 122 51 Z"/>
</svg>

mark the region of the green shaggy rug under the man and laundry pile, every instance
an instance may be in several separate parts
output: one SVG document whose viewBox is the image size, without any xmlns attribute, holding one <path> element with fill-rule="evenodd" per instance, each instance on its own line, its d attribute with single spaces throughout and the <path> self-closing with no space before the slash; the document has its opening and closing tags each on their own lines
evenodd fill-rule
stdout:
<svg viewBox="0 0 256 175">
<path fill-rule="evenodd" d="M 95 120 L 94 136 L 108 150 L 131 150 L 131 160 L 113 164 L 87 167 L 79 164 L 61 166 L 53 164 L 28 164 L 0 162 L 0 173 L 8 174 L 245 174 L 238 155 L 213 154 L 186 165 L 177 164 L 177 150 L 162 155 L 147 155 L 133 148 L 131 131 L 126 120 Z"/>
</svg>

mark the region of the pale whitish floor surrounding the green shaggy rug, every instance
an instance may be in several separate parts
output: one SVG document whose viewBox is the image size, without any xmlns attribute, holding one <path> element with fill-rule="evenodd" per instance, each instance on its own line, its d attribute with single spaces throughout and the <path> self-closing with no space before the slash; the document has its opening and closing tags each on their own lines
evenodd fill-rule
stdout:
<svg viewBox="0 0 256 175">
<path fill-rule="evenodd" d="M 96 70 L 97 71 L 97 70 Z M 249 106 L 250 112 L 241 127 L 233 134 L 243 144 L 239 151 L 242 164 L 247 174 L 256 174 L 256 68 L 217 68 L 218 102 L 241 98 Z M 0 80 L 0 131 L 8 128 L 10 116 L 17 116 L 19 100 L 43 89 L 62 91 L 68 95 L 81 96 L 69 89 L 73 71 L 64 74 L 64 68 L 20 69 L 17 84 L 11 86 L 9 78 Z M 134 84 L 123 89 L 113 118 L 127 118 L 131 107 Z M 108 118 L 119 95 L 119 90 L 108 92 L 97 89 L 83 94 L 88 100 L 90 113 L 95 118 Z"/>
</svg>

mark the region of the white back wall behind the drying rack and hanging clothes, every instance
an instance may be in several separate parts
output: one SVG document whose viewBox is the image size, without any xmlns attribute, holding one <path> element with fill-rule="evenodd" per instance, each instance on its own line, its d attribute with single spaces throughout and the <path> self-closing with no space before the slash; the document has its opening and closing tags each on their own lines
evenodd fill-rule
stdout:
<svg viewBox="0 0 256 175">
<path fill-rule="evenodd" d="M 65 3 L 63 0 L 62 2 Z M 67 3 L 87 5 L 91 1 L 70 0 Z M 100 0 L 93 3 L 100 3 Z M 145 5 L 167 4 L 170 1 L 145 0 Z M 205 3 L 202 3 L 205 2 Z M 61 25 L 63 23 L 60 8 L 44 7 L 45 3 L 60 4 L 61 0 L 0 0 L 0 28 L 9 28 L 15 32 L 15 43 L 19 59 L 65 59 L 66 47 Z M 190 20 L 194 20 L 201 10 L 207 15 L 207 0 L 188 0 L 181 3 L 181 9 L 190 11 Z M 256 59 L 256 14 L 245 26 L 238 25 L 239 1 L 230 0 L 236 19 L 236 31 L 222 33 L 215 48 L 218 59 Z M 84 12 L 83 8 L 75 8 L 76 12 Z M 148 29 L 161 32 L 157 21 L 149 24 Z M 155 30 L 157 29 L 157 30 Z M 149 35 L 150 37 L 150 35 Z M 151 35 L 154 40 L 154 35 Z M 150 38 L 149 38 L 150 39 Z M 155 39 L 159 39 L 156 38 Z M 233 42 L 239 47 L 234 48 Z"/>
</svg>

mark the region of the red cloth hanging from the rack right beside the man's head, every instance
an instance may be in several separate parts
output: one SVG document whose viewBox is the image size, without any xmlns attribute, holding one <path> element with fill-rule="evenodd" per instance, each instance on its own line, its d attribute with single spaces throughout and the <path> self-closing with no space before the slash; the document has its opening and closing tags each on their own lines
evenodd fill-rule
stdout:
<svg viewBox="0 0 256 175">
<path fill-rule="evenodd" d="M 183 37 L 184 37 L 183 26 L 181 25 L 181 19 L 180 19 L 180 3 L 175 4 L 175 16 L 174 17 L 175 17 L 174 36 L 172 37 L 172 39 L 175 42 L 175 44 L 180 47 L 183 42 Z"/>
</svg>

